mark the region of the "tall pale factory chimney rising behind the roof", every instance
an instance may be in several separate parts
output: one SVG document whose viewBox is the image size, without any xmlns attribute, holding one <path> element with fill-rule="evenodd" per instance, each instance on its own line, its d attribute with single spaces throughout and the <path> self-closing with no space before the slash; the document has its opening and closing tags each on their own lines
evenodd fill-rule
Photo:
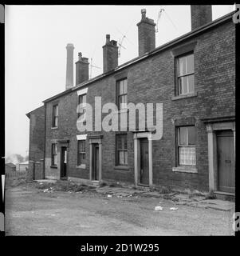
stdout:
<svg viewBox="0 0 240 256">
<path fill-rule="evenodd" d="M 67 49 L 67 68 L 66 68 L 66 90 L 73 87 L 73 43 L 68 43 Z"/>
</svg>

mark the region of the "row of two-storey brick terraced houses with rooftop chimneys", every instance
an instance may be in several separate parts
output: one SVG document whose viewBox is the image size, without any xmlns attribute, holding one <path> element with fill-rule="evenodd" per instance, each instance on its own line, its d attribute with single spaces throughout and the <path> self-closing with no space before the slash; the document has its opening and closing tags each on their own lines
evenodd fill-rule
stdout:
<svg viewBox="0 0 240 256">
<path fill-rule="evenodd" d="M 89 61 L 78 54 L 73 86 L 73 44 L 67 48 L 66 90 L 27 114 L 31 178 L 116 181 L 217 194 L 235 190 L 235 25 L 233 13 L 212 21 L 211 6 L 191 6 L 191 32 L 155 48 L 155 23 L 146 10 L 137 24 L 139 57 L 118 66 L 116 41 L 106 36 L 104 73 L 89 80 Z M 163 104 L 161 138 L 154 130 L 80 132 L 79 103 L 95 110 L 114 102 L 112 117 L 129 102 Z M 124 103 L 124 104 L 120 104 Z M 86 104 L 85 104 L 86 105 Z M 156 110 L 154 110 L 156 114 Z M 136 114 L 136 119 L 138 116 Z M 129 128 L 129 120 L 128 120 Z"/>
</svg>

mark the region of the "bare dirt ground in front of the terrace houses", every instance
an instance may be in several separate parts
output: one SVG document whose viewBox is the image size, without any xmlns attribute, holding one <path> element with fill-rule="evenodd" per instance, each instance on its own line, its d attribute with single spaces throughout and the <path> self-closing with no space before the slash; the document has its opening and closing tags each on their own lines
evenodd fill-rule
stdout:
<svg viewBox="0 0 240 256">
<path fill-rule="evenodd" d="M 24 183 L 6 188 L 6 235 L 234 234 L 230 211 L 191 206 L 173 211 L 173 202 L 159 198 L 43 191 Z"/>
</svg>

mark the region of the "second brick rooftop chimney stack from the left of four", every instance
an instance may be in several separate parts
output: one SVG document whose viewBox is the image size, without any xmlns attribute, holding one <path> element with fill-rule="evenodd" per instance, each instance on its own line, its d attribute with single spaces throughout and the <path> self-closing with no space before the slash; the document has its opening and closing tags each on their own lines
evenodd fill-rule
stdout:
<svg viewBox="0 0 240 256">
<path fill-rule="evenodd" d="M 110 41 L 110 34 L 106 35 L 106 43 L 103 46 L 104 73 L 116 69 L 118 66 L 118 46 L 115 40 Z"/>
</svg>

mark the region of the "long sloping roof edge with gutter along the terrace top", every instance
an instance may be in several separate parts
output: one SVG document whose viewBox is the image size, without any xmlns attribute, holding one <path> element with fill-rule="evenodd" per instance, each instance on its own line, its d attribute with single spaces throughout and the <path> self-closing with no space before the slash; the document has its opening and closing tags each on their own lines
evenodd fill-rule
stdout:
<svg viewBox="0 0 240 256">
<path fill-rule="evenodd" d="M 74 86 L 73 88 L 70 88 L 69 90 L 65 90 L 65 91 L 61 92 L 60 94 L 56 94 L 51 98 L 47 98 L 47 99 L 45 99 L 45 101 L 43 101 L 43 103 L 51 102 L 55 98 L 59 98 L 62 95 L 69 94 L 70 92 L 73 92 L 75 90 L 79 90 L 80 88 L 82 88 L 84 86 L 88 86 L 92 82 L 99 81 L 101 78 L 108 77 L 108 75 L 110 75 L 110 74 L 114 74 L 117 71 L 123 70 L 124 68 L 131 66 L 132 64 L 134 64 L 136 62 L 140 62 L 148 57 L 151 57 L 152 55 L 158 54 L 162 50 L 166 50 L 167 48 L 169 48 L 171 46 L 177 45 L 179 42 L 183 42 L 187 38 L 191 38 L 191 37 L 195 36 L 196 34 L 201 34 L 204 31 L 209 30 L 210 28 L 212 28 L 214 26 L 218 26 L 219 24 L 222 24 L 223 22 L 227 22 L 230 18 L 232 18 L 232 15 L 234 13 L 235 13 L 235 10 L 230 12 L 229 14 L 226 14 L 220 18 L 215 19 L 212 22 L 209 22 L 203 26 L 200 26 L 199 28 L 196 28 L 195 30 L 191 30 L 187 34 L 183 34 L 179 38 L 175 38 L 175 39 L 171 40 L 170 42 L 167 42 L 167 43 L 163 44 L 162 46 L 159 46 L 159 47 L 155 48 L 154 50 L 151 50 L 151 52 L 148 52 L 148 53 L 144 54 L 143 56 L 132 58 L 132 60 L 125 62 L 124 64 L 116 67 L 115 70 L 111 70 L 108 73 L 100 74 L 100 75 L 96 76 L 95 78 L 92 78 L 88 81 L 82 82 L 81 84 Z"/>
</svg>

